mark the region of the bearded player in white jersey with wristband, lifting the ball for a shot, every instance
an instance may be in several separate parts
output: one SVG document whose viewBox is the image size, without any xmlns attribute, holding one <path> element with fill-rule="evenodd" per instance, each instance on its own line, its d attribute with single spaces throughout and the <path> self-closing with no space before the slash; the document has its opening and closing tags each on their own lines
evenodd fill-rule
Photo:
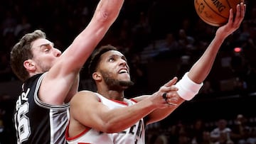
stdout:
<svg viewBox="0 0 256 144">
<path fill-rule="evenodd" d="M 161 121 L 183 101 L 198 94 L 223 41 L 240 27 L 245 16 L 243 3 L 236 9 L 234 19 L 230 9 L 228 23 L 218 28 L 215 38 L 191 70 L 177 83 L 174 77 L 152 95 L 125 99 L 124 90 L 132 84 L 126 58 L 112 45 L 98 49 L 89 68 L 97 92 L 84 90 L 71 99 L 68 143 L 144 144 L 144 124 Z"/>
</svg>

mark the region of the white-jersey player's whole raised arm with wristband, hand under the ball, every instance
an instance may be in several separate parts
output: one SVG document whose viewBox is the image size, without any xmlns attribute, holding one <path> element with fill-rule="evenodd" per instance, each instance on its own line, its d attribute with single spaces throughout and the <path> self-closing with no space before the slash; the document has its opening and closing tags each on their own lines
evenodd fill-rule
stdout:
<svg viewBox="0 0 256 144">
<path fill-rule="evenodd" d="M 191 67 L 191 70 L 189 70 L 189 72 L 186 73 L 179 82 L 177 82 L 176 87 L 178 88 L 178 95 L 173 94 L 176 99 L 177 106 L 171 106 L 171 108 L 166 108 L 164 111 L 163 109 L 156 109 L 149 114 L 149 121 L 147 121 L 147 123 L 153 123 L 166 118 L 166 116 L 169 116 L 169 114 L 181 105 L 183 101 L 192 99 L 193 96 L 198 93 L 203 81 L 206 79 L 213 67 L 213 62 L 220 46 L 223 44 L 223 41 L 228 37 L 228 35 L 240 27 L 240 23 L 245 16 L 245 4 L 238 4 L 236 9 L 237 12 L 235 13 L 235 18 L 233 10 L 230 9 L 228 23 L 218 28 L 215 33 L 215 38 L 213 38 L 212 42 L 200 59 Z M 171 96 L 171 94 L 169 94 L 169 96 Z"/>
</svg>

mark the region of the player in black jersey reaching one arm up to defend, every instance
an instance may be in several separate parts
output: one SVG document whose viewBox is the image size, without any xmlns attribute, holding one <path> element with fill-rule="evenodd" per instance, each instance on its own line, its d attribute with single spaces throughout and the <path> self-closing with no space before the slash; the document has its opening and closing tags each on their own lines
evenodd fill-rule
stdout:
<svg viewBox="0 0 256 144">
<path fill-rule="evenodd" d="M 100 1 L 88 26 L 63 53 L 40 30 L 27 33 L 14 45 L 11 68 L 23 82 L 14 111 L 17 143 L 66 143 L 69 101 L 78 92 L 80 69 L 123 2 Z"/>
</svg>

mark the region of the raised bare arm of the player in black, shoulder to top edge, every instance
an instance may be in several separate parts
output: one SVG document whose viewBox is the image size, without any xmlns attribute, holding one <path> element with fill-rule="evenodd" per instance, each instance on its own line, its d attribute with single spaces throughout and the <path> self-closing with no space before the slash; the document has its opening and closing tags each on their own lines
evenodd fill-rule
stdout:
<svg viewBox="0 0 256 144">
<path fill-rule="evenodd" d="M 47 104 L 63 104 L 67 96 L 73 96 L 78 91 L 80 69 L 114 23 L 123 2 L 124 0 L 99 2 L 90 23 L 44 77 L 39 91 L 41 101 Z"/>
</svg>

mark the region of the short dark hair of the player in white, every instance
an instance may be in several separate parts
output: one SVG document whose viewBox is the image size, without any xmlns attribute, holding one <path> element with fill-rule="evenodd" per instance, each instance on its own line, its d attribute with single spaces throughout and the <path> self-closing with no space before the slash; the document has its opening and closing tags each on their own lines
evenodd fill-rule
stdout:
<svg viewBox="0 0 256 144">
<path fill-rule="evenodd" d="M 91 59 L 90 59 L 89 67 L 88 67 L 90 77 L 92 76 L 92 73 L 96 71 L 97 66 L 99 65 L 100 56 L 110 50 L 117 50 L 117 48 L 115 48 L 112 45 L 103 45 L 100 48 L 98 48 L 97 50 L 95 50 L 95 52 L 93 52 Z"/>
</svg>

